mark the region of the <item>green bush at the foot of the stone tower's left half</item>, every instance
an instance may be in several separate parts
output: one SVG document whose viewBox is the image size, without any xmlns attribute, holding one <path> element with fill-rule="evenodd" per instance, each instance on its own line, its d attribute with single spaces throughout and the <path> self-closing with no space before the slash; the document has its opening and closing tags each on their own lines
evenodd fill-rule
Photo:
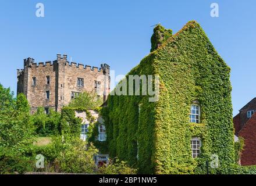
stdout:
<svg viewBox="0 0 256 186">
<path fill-rule="evenodd" d="M 61 114 L 53 109 L 49 109 L 49 114 L 47 115 L 44 108 L 38 108 L 37 112 L 32 116 L 32 120 L 36 134 L 40 136 L 60 134 Z"/>
</svg>

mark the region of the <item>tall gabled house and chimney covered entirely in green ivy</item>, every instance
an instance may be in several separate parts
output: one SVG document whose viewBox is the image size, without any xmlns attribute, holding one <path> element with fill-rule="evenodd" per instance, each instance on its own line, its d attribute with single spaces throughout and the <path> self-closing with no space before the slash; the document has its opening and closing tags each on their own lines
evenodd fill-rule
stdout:
<svg viewBox="0 0 256 186">
<path fill-rule="evenodd" d="M 156 26 L 151 45 L 126 78 L 159 76 L 159 99 L 109 95 L 101 113 L 102 153 L 126 160 L 139 173 L 205 173 L 207 161 L 214 161 L 211 173 L 228 173 L 234 163 L 230 68 L 194 21 L 174 35 Z"/>
</svg>

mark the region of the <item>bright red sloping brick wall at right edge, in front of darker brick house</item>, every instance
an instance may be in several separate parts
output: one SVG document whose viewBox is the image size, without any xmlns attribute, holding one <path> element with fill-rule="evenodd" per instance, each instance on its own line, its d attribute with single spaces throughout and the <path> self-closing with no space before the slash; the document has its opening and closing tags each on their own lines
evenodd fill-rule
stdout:
<svg viewBox="0 0 256 186">
<path fill-rule="evenodd" d="M 244 138 L 244 151 L 241 155 L 241 165 L 256 164 L 256 113 L 247 121 L 239 132 Z"/>
</svg>

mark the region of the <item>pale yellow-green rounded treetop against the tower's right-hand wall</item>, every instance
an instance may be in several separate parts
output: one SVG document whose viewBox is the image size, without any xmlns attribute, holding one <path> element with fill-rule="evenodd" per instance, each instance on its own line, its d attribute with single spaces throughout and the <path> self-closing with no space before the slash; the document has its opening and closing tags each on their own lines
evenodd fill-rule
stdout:
<svg viewBox="0 0 256 186">
<path fill-rule="evenodd" d="M 70 108 L 84 108 L 94 110 L 101 106 L 102 101 L 98 99 L 95 92 L 81 92 L 76 99 L 72 99 L 69 103 Z"/>
</svg>

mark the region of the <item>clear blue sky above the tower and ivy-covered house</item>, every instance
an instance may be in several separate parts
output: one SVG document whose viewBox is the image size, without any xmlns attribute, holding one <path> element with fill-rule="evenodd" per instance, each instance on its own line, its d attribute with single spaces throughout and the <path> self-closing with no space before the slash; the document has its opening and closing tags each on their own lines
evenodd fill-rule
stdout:
<svg viewBox="0 0 256 186">
<path fill-rule="evenodd" d="M 31 56 L 36 62 L 67 53 L 72 61 L 126 74 L 148 55 L 154 24 L 176 33 L 196 20 L 232 69 L 233 113 L 254 98 L 256 86 L 256 1 L 3 1 L 0 6 L 0 83 L 16 92 L 16 69 Z M 35 5 L 44 3 L 45 17 Z M 211 3 L 219 17 L 211 17 Z"/>
</svg>

